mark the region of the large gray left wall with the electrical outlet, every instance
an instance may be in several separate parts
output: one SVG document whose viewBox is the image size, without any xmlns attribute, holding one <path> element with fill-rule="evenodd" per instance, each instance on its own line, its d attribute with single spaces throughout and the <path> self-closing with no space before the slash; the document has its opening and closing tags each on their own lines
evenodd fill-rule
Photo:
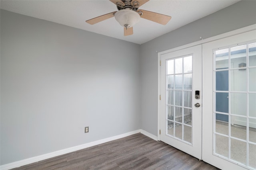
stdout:
<svg viewBox="0 0 256 170">
<path fill-rule="evenodd" d="M 140 45 L 5 10 L 0 41 L 1 165 L 140 129 Z"/>
</svg>

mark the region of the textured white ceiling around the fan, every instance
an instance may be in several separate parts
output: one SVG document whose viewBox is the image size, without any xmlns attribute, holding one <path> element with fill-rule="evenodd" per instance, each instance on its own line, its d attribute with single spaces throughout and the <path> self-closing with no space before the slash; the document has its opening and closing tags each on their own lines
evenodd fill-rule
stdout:
<svg viewBox="0 0 256 170">
<path fill-rule="evenodd" d="M 142 44 L 192 21 L 230 6 L 239 0 L 150 0 L 139 9 L 172 16 L 166 25 L 140 19 L 133 35 L 124 36 L 114 19 L 90 25 L 86 20 L 117 11 L 109 0 L 1 0 L 0 8 L 43 20 L 61 23 L 109 37 Z"/>
</svg>

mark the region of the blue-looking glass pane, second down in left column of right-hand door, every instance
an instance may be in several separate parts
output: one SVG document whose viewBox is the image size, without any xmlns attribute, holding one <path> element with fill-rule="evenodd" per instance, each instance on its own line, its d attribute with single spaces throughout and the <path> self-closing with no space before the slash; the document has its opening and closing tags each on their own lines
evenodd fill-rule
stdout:
<svg viewBox="0 0 256 170">
<path fill-rule="evenodd" d="M 228 70 L 216 72 L 216 90 L 228 91 Z"/>
</svg>

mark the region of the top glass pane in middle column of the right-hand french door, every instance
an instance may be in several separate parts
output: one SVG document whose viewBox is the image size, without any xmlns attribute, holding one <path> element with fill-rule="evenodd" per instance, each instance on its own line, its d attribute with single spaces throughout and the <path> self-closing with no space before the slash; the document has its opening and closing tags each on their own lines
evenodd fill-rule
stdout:
<svg viewBox="0 0 256 170">
<path fill-rule="evenodd" d="M 246 45 L 231 48 L 231 68 L 246 67 Z"/>
</svg>

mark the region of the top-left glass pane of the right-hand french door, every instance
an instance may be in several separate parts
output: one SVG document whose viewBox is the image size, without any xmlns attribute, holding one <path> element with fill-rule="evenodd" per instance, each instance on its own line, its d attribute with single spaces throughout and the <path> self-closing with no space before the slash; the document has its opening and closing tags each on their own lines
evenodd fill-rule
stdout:
<svg viewBox="0 0 256 170">
<path fill-rule="evenodd" d="M 229 49 L 215 51 L 215 68 L 228 68 Z"/>
</svg>

